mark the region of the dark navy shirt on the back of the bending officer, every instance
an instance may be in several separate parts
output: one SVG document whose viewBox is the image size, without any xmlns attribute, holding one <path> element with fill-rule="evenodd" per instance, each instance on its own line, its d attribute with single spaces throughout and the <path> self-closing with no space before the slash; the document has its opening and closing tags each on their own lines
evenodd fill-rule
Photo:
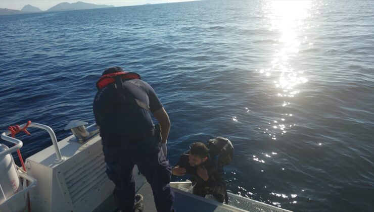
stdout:
<svg viewBox="0 0 374 212">
<path fill-rule="evenodd" d="M 139 79 L 124 81 L 123 87 L 125 95 L 113 83 L 100 89 L 95 96 L 94 115 L 102 135 L 143 134 L 153 129 L 149 112 L 155 113 L 162 108 L 156 92 Z M 149 111 L 123 100 L 131 102 L 135 98 L 148 105 Z"/>
</svg>

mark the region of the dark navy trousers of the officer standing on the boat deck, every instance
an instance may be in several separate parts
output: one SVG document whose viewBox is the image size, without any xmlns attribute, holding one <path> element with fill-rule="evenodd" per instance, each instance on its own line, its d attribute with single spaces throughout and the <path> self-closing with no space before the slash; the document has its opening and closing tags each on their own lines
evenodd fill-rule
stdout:
<svg viewBox="0 0 374 212">
<path fill-rule="evenodd" d="M 151 185 L 157 211 L 172 211 L 174 194 L 170 189 L 171 167 L 160 150 L 155 136 L 134 139 L 125 136 L 102 136 L 107 174 L 115 184 L 114 195 L 119 209 L 133 211 L 134 165 Z"/>
</svg>

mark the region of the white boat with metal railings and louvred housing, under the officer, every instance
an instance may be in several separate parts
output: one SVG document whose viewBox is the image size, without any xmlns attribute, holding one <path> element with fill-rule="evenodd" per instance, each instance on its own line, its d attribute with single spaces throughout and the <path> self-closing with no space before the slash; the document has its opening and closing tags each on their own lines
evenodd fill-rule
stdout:
<svg viewBox="0 0 374 212">
<path fill-rule="evenodd" d="M 16 166 L 11 154 L 22 147 L 22 141 L 11 137 L 11 130 L 1 134 L 3 140 L 15 145 L 8 147 L 0 143 L 0 212 L 116 209 L 114 184 L 105 172 L 99 130 L 96 124 L 86 128 L 87 124 L 71 121 L 65 130 L 71 130 L 72 134 L 61 141 L 57 141 L 49 126 L 31 122 L 18 126 L 18 131 L 25 131 L 26 127 L 45 130 L 52 140 L 51 146 L 26 158 L 24 168 Z M 136 193 L 144 196 L 144 211 L 156 211 L 146 178 L 136 166 L 133 174 Z M 190 181 L 170 185 L 175 194 L 176 211 L 290 211 L 231 192 L 228 192 L 228 204 L 220 203 L 212 195 L 204 198 L 192 194 Z"/>
</svg>

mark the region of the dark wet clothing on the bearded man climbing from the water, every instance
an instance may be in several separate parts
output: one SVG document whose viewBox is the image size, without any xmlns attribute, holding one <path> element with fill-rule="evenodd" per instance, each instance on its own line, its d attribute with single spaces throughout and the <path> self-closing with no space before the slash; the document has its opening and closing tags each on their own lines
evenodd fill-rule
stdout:
<svg viewBox="0 0 374 212">
<path fill-rule="evenodd" d="M 180 155 L 179 161 L 175 166 L 184 168 L 186 174 L 191 175 L 191 181 L 195 184 L 193 193 L 205 197 L 206 194 L 212 194 L 219 202 L 223 202 L 227 196 L 226 181 L 223 175 L 223 167 L 208 157 L 208 160 L 202 164 L 207 169 L 209 179 L 204 181 L 197 174 L 197 167 L 192 167 L 189 163 L 190 151 Z"/>
</svg>

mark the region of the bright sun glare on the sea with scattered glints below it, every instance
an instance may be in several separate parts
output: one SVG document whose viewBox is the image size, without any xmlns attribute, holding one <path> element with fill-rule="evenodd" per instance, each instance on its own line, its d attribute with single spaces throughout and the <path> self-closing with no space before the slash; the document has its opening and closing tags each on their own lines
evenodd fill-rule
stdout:
<svg viewBox="0 0 374 212">
<path fill-rule="evenodd" d="M 277 136 L 285 136 L 296 126 L 293 123 L 294 115 L 291 110 L 295 107 L 294 100 L 300 95 L 302 84 L 307 83 L 308 79 L 304 75 L 304 70 L 298 70 L 301 62 L 298 55 L 303 49 L 313 48 L 312 40 L 305 36 L 303 31 L 315 27 L 307 23 L 307 18 L 311 17 L 311 1 L 271 1 L 264 3 L 263 10 L 265 13 L 265 25 L 272 35 L 273 43 L 270 46 L 274 54 L 269 59 L 269 66 L 258 69 L 261 76 L 271 80 L 273 83 L 274 94 L 276 95 L 275 105 L 277 109 L 282 110 L 278 118 L 265 122 L 266 126 L 259 127 L 258 130 L 263 132 L 267 138 L 277 141 Z M 301 49 L 301 50 L 300 50 Z M 299 63 L 299 64 L 298 64 Z M 257 71 L 257 70 L 256 70 Z M 247 110 L 247 108 L 246 108 Z M 236 117 L 232 117 L 236 121 Z M 322 143 L 317 143 L 322 146 Z M 272 158 L 276 158 L 277 153 L 262 153 L 262 155 L 252 155 L 251 160 L 258 165 L 266 165 L 271 162 Z M 282 172 L 288 172 L 287 168 L 279 167 Z M 263 173 L 264 170 L 261 170 Z M 266 172 L 265 172 L 266 173 Z M 265 174 L 264 173 L 264 174 Z M 266 186 L 265 186 L 266 188 Z M 255 188 L 253 188 L 254 190 Z M 304 191 L 304 190 L 302 190 Z M 252 193 L 247 192 L 252 195 Z M 297 194 L 284 194 L 281 192 L 271 192 L 274 195 L 273 205 L 280 207 L 280 202 L 285 201 L 296 204 Z"/>
</svg>

